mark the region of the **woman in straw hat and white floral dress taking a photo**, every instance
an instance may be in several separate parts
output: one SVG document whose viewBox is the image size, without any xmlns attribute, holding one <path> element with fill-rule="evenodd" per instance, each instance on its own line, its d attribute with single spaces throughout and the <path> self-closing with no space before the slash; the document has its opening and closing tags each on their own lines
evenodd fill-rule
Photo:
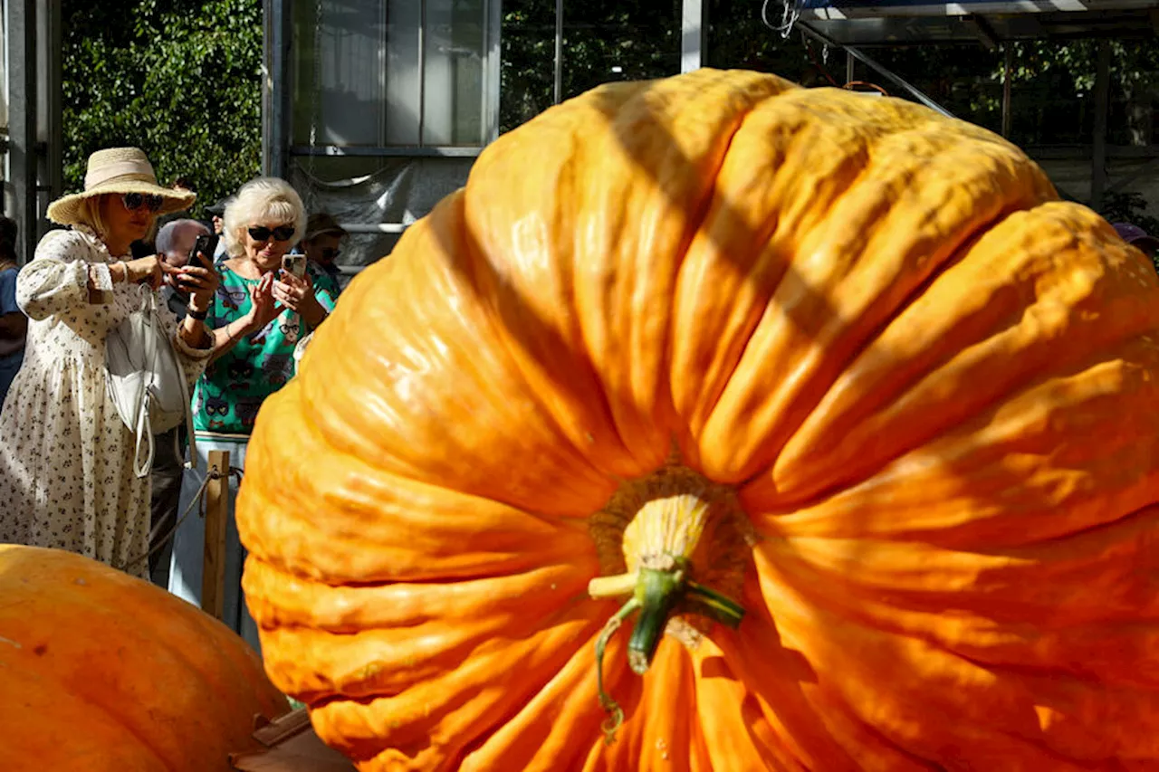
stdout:
<svg viewBox="0 0 1159 772">
<path fill-rule="evenodd" d="M 147 575 L 150 480 L 133 472 L 134 442 L 105 385 L 104 345 L 140 301 L 137 284 L 162 277 L 190 294 L 178 326 L 163 304 L 185 377 L 204 370 L 212 335 L 204 319 L 218 285 L 199 267 L 169 269 L 130 245 L 158 214 L 187 209 L 187 190 L 162 188 L 134 147 L 88 159 L 83 192 L 49 205 L 70 230 L 49 232 L 16 279 L 29 316 L 24 364 L 0 412 L 0 541 L 57 547 Z"/>
</svg>

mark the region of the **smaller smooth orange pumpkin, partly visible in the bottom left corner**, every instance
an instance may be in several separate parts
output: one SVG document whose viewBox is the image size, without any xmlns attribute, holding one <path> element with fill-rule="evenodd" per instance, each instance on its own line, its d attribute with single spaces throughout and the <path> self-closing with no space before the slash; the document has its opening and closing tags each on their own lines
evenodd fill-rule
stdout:
<svg viewBox="0 0 1159 772">
<path fill-rule="evenodd" d="M 58 549 L 0 545 L 0 769 L 228 772 L 290 706 L 225 625 Z"/>
</svg>

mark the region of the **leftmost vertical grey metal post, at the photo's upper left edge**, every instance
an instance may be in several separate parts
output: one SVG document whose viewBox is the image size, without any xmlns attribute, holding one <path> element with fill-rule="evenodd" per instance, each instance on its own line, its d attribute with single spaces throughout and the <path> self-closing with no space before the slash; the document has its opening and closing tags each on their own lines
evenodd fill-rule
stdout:
<svg viewBox="0 0 1159 772">
<path fill-rule="evenodd" d="M 36 250 L 41 219 L 36 190 L 36 1 L 9 0 L 8 9 L 8 180 L 9 213 L 20 227 L 17 258 Z"/>
</svg>

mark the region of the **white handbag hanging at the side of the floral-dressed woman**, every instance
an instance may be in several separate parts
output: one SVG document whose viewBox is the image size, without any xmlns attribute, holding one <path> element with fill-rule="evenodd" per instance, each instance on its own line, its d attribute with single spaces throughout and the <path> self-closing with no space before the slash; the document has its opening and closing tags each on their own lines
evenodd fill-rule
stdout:
<svg viewBox="0 0 1159 772">
<path fill-rule="evenodd" d="M 156 293 L 148 285 L 143 285 L 140 292 L 140 306 L 104 340 L 104 370 L 109 399 L 136 437 L 133 471 L 144 478 L 153 468 L 154 432 L 185 422 L 190 458 L 196 459 L 197 453 L 185 373 L 158 315 Z M 144 463 L 143 447 L 147 449 Z"/>
</svg>

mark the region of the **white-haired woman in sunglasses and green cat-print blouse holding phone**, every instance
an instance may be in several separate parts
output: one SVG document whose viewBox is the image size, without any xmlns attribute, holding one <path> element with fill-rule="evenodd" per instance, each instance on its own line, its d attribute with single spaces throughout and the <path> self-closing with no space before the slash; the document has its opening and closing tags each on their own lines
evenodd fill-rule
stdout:
<svg viewBox="0 0 1159 772">
<path fill-rule="evenodd" d="M 290 270 L 283 267 L 306 227 L 301 198 L 284 180 L 250 180 L 226 204 L 223 220 L 227 257 L 218 265 L 221 283 L 205 320 L 214 330 L 213 355 L 194 392 L 199 468 L 207 468 L 211 450 L 228 451 L 229 465 L 245 468 L 258 408 L 290 380 L 294 347 L 322 323 L 338 294 L 334 281 L 305 256 L 291 256 L 296 264 Z M 241 603 L 243 552 L 232 514 L 236 485 L 231 479 L 225 621 L 256 646 Z M 195 475 L 185 475 L 180 511 L 199 487 Z M 170 591 L 198 605 L 204 539 L 204 520 L 185 518 L 174 540 L 169 577 Z"/>
</svg>

